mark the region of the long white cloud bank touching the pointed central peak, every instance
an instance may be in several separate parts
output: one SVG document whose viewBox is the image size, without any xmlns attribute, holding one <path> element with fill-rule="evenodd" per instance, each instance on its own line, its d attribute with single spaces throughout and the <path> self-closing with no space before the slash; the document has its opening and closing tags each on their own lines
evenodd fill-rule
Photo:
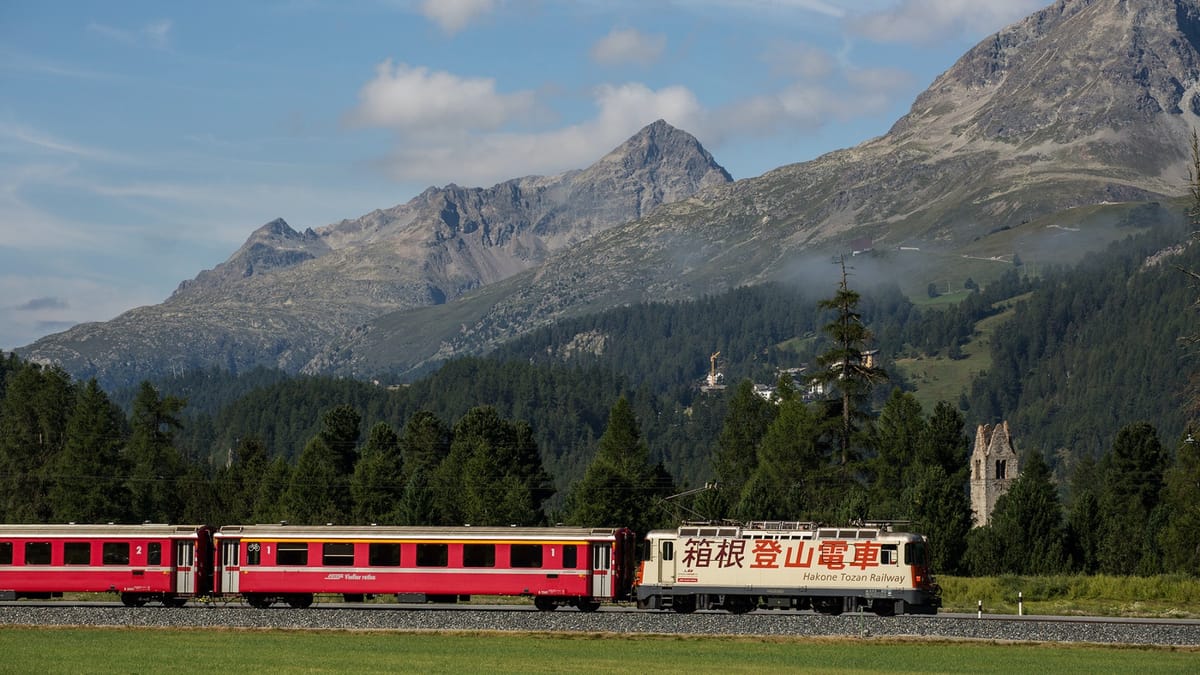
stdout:
<svg viewBox="0 0 1200 675">
<path fill-rule="evenodd" d="M 400 180 L 487 186 L 521 175 L 586 167 L 656 119 L 692 132 L 704 126 L 703 108 L 684 86 L 604 85 L 593 96 L 596 115 L 588 121 L 544 132 L 463 136 L 451 142 L 408 139 L 384 161 L 385 169 Z"/>
</svg>

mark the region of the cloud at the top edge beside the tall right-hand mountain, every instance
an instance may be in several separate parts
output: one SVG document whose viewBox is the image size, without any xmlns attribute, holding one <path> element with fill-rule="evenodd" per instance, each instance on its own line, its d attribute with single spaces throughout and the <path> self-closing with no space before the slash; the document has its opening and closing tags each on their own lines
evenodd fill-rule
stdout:
<svg viewBox="0 0 1200 675">
<path fill-rule="evenodd" d="M 1044 5 L 1045 0 L 900 0 L 894 7 L 847 18 L 847 25 L 876 42 L 932 44 L 982 37 Z"/>
</svg>

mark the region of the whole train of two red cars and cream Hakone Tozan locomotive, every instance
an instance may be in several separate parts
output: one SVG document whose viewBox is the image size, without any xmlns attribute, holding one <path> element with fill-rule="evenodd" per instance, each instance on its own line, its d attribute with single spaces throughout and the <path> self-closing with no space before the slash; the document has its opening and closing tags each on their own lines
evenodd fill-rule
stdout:
<svg viewBox="0 0 1200 675">
<path fill-rule="evenodd" d="M 628 527 L 0 525 L 0 601 L 116 593 L 127 607 L 318 597 L 454 603 L 528 597 L 541 611 L 934 614 L 920 534 L 816 524 Z"/>
</svg>

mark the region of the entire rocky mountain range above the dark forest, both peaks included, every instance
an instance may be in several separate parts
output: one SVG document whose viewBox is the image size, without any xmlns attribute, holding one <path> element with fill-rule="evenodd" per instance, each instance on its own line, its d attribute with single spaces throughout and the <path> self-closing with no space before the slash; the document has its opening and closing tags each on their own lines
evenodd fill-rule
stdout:
<svg viewBox="0 0 1200 675">
<path fill-rule="evenodd" d="M 769 280 L 832 292 L 826 263 L 858 250 L 888 251 L 910 288 L 1069 262 L 1121 234 L 1130 209 L 1112 204 L 1186 192 L 1198 47 L 1198 0 L 1058 0 L 854 148 L 727 183 L 655 123 L 578 173 L 430 190 L 312 233 L 269 223 L 163 305 L 18 353 L 126 381 L 260 363 L 412 375 L 626 303 Z"/>
</svg>

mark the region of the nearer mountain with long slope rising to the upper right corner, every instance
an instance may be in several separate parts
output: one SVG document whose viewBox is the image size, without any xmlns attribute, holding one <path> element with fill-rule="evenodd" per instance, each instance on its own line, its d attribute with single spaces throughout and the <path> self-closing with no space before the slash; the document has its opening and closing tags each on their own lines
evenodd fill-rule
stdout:
<svg viewBox="0 0 1200 675">
<path fill-rule="evenodd" d="M 454 305 L 379 317 L 310 369 L 410 374 L 562 317 L 767 280 L 832 292 L 823 263 L 863 246 L 892 251 L 890 276 L 914 288 L 1014 253 L 1069 262 L 1127 232 L 1112 226 L 1130 209 L 1109 204 L 1186 191 L 1198 47 L 1194 0 L 1060 0 L 967 52 L 882 137 L 676 202 Z"/>
</svg>

